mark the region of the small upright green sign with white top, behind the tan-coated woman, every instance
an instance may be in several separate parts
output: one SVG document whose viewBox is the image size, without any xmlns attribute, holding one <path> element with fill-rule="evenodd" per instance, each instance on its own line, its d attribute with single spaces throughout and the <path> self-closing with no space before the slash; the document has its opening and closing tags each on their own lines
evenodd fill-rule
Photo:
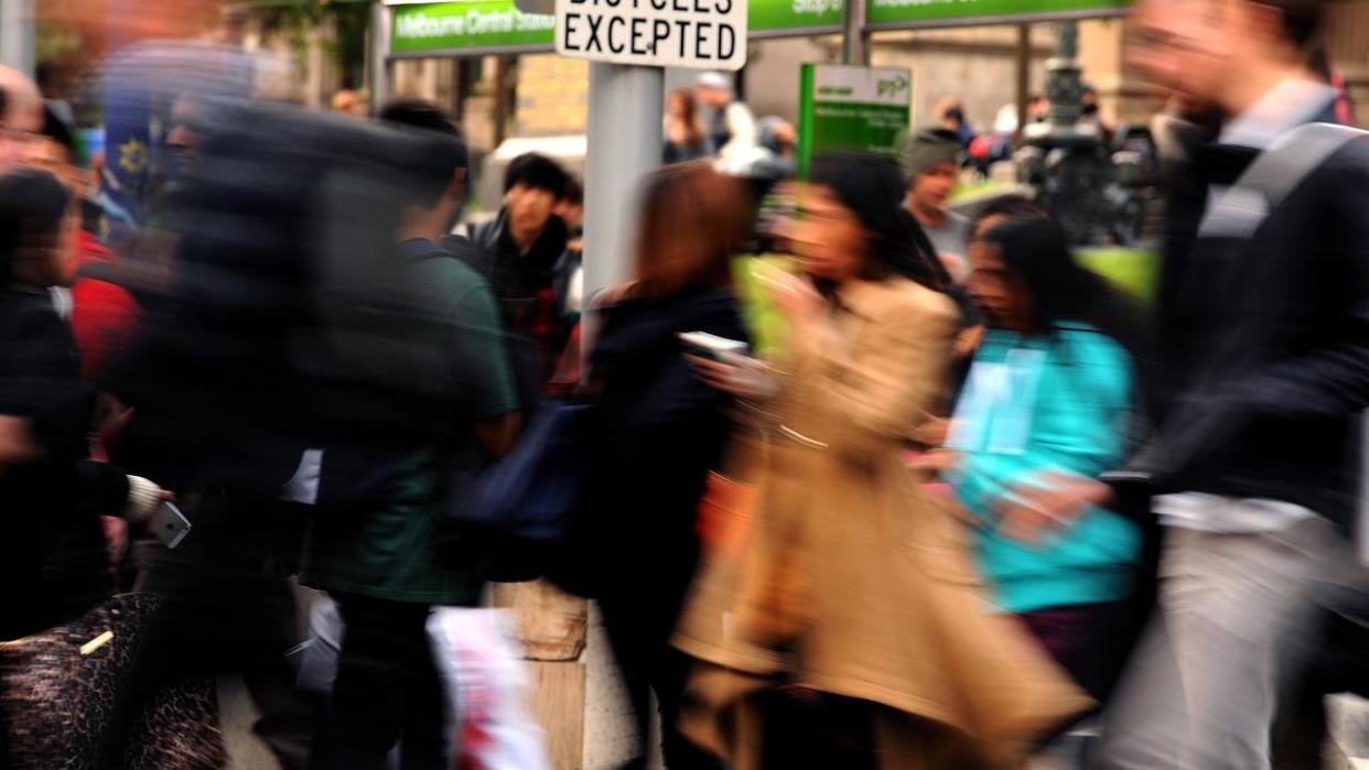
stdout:
<svg viewBox="0 0 1369 770">
<path fill-rule="evenodd" d="M 798 94 L 798 164 L 857 149 L 894 156 L 908 129 L 913 75 L 902 67 L 804 64 Z"/>
</svg>

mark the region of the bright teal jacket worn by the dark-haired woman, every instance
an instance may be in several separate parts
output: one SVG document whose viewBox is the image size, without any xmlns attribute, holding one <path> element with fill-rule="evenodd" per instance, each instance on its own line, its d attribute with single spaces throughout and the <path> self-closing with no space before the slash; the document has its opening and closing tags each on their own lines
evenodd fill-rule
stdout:
<svg viewBox="0 0 1369 770">
<path fill-rule="evenodd" d="M 1132 367 L 1092 327 L 1053 334 L 991 331 L 956 408 L 947 444 L 960 451 L 949 480 L 977 518 L 979 565 L 1010 613 L 1124 599 L 1140 554 L 1131 521 L 1090 507 L 1035 543 L 999 532 L 994 502 L 1045 473 L 1097 476 L 1123 460 Z"/>
</svg>

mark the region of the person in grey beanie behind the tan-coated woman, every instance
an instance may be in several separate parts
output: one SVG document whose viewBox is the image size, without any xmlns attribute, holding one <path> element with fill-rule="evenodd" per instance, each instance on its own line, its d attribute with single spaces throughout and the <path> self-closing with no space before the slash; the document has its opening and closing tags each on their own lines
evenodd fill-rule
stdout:
<svg viewBox="0 0 1369 770">
<path fill-rule="evenodd" d="M 965 248 L 971 223 L 947 204 L 956 191 L 962 157 L 960 141 L 946 129 L 923 129 L 906 135 L 898 148 L 908 190 L 904 207 L 921 224 L 957 283 L 969 274 Z"/>
</svg>

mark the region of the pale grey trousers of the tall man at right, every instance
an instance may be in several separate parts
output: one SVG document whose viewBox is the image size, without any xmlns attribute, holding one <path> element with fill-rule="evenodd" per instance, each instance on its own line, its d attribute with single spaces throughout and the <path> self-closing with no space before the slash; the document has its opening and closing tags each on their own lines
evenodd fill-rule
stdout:
<svg viewBox="0 0 1369 770">
<path fill-rule="evenodd" d="M 1160 606 L 1103 717 L 1098 769 L 1268 770 L 1270 729 L 1314 650 L 1324 520 L 1268 533 L 1170 528 Z"/>
</svg>

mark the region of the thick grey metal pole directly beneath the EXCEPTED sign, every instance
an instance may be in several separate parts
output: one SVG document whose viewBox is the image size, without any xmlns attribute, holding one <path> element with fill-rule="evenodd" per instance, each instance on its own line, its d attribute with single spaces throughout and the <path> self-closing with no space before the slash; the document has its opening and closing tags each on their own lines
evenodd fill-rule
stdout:
<svg viewBox="0 0 1369 770">
<path fill-rule="evenodd" d="M 660 67 L 590 63 L 585 295 L 632 275 L 638 185 L 661 164 Z"/>
</svg>

